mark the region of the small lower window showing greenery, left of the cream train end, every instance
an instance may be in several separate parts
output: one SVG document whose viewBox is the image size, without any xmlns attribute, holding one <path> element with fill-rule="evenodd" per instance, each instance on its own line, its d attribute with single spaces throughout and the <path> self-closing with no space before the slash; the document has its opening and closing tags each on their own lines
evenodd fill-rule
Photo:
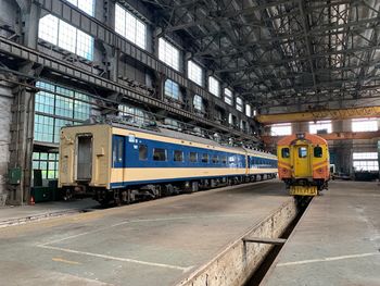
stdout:
<svg viewBox="0 0 380 286">
<path fill-rule="evenodd" d="M 58 169 L 58 153 L 33 152 L 33 170 L 41 170 L 42 178 L 56 178 Z"/>
</svg>

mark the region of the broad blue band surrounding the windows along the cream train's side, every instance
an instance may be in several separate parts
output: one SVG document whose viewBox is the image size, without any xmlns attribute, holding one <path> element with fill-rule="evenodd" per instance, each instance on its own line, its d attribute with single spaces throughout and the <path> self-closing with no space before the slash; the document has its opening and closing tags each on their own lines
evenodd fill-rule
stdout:
<svg viewBox="0 0 380 286">
<path fill-rule="evenodd" d="M 245 167 L 245 156 L 231 152 L 217 151 L 206 148 L 169 144 L 157 140 L 136 138 L 134 136 L 113 136 L 113 167 Z M 139 159 L 139 147 L 145 146 L 147 159 Z M 165 161 L 153 160 L 154 149 L 166 151 Z M 183 161 L 174 161 L 174 152 L 181 151 Z M 190 152 L 198 154 L 197 162 L 190 162 Z M 208 156 L 208 162 L 202 162 L 202 156 Z M 217 157 L 218 161 L 213 162 Z M 226 163 L 223 159 L 226 158 Z M 250 156 L 250 166 L 257 169 L 277 167 L 276 159 Z"/>
</svg>

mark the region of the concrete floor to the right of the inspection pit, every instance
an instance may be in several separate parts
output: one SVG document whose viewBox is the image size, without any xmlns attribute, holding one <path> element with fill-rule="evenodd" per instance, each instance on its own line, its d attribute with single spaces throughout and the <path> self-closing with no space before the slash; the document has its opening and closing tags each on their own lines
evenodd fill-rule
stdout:
<svg viewBox="0 0 380 286">
<path fill-rule="evenodd" d="M 380 186 L 332 182 L 261 285 L 380 285 Z"/>
</svg>

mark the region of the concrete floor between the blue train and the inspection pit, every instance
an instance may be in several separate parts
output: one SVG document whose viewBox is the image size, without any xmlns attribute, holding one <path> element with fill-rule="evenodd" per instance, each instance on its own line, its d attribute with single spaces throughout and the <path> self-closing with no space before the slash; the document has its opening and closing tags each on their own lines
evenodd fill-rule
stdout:
<svg viewBox="0 0 380 286">
<path fill-rule="evenodd" d="M 0 285 L 172 285 L 280 204 L 277 181 L 0 229 Z"/>
</svg>

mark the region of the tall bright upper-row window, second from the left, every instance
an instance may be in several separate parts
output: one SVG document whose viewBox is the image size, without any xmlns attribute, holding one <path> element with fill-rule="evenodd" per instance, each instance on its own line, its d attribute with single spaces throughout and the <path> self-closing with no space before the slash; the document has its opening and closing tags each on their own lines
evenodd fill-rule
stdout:
<svg viewBox="0 0 380 286">
<path fill-rule="evenodd" d="M 117 3 L 115 5 L 115 32 L 140 48 L 147 48 L 147 25 Z"/>
</svg>

